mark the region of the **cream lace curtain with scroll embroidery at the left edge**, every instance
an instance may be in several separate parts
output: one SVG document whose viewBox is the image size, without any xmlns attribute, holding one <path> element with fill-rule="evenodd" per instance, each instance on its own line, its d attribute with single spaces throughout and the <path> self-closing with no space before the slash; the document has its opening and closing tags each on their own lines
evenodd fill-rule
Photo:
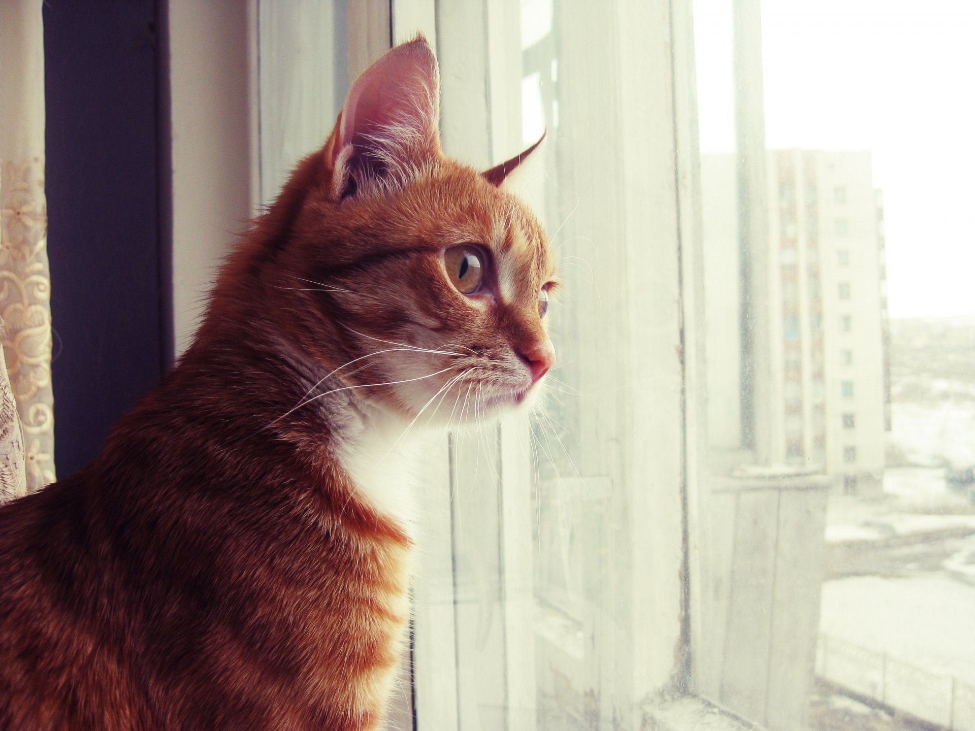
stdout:
<svg viewBox="0 0 975 731">
<path fill-rule="evenodd" d="M 55 480 L 41 8 L 0 2 L 0 501 Z"/>
</svg>

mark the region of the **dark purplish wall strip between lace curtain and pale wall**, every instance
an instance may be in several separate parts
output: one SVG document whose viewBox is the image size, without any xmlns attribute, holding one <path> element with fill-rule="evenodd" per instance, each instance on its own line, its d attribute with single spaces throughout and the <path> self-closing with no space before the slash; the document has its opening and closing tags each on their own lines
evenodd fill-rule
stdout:
<svg viewBox="0 0 975 731">
<path fill-rule="evenodd" d="M 60 477 L 98 454 L 166 367 L 161 25 L 155 0 L 44 3 Z"/>
</svg>

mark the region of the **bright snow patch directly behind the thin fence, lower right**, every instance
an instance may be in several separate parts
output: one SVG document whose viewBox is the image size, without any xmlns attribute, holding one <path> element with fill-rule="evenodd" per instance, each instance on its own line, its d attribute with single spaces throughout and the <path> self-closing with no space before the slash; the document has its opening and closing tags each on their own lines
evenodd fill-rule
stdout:
<svg viewBox="0 0 975 731">
<path fill-rule="evenodd" d="M 823 584 L 820 632 L 975 685 L 975 588 L 945 576 Z"/>
</svg>

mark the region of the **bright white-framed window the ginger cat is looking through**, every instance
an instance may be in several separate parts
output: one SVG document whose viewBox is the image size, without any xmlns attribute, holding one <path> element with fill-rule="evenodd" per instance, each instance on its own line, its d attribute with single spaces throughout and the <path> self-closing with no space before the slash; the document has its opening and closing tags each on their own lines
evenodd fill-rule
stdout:
<svg viewBox="0 0 975 731">
<path fill-rule="evenodd" d="M 629 731 L 689 692 L 768 731 L 970 727 L 975 8 L 465 7 L 436 3 L 446 149 L 547 130 L 520 191 L 560 365 L 443 455 L 417 717 Z"/>
</svg>

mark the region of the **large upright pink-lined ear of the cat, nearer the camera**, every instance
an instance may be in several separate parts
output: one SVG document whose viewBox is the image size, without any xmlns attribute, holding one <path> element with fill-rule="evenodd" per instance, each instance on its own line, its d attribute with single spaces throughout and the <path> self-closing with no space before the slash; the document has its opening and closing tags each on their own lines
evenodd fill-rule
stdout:
<svg viewBox="0 0 975 731">
<path fill-rule="evenodd" d="M 440 73 L 422 35 L 356 79 L 325 147 L 331 194 L 404 185 L 440 155 Z"/>
</svg>

